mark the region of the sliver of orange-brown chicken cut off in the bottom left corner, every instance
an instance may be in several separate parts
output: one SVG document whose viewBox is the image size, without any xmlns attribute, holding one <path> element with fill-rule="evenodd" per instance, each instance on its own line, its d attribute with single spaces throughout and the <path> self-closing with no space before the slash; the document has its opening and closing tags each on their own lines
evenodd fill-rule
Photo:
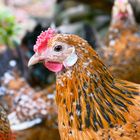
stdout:
<svg viewBox="0 0 140 140">
<path fill-rule="evenodd" d="M 0 140 L 15 140 L 15 135 L 10 129 L 7 114 L 2 106 L 0 106 Z"/>
</svg>

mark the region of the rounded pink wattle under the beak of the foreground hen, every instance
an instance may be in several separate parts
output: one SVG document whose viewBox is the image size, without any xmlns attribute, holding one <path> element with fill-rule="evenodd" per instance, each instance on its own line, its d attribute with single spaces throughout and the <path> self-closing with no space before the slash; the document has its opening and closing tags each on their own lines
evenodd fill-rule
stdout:
<svg viewBox="0 0 140 140">
<path fill-rule="evenodd" d="M 45 62 L 44 65 L 52 72 L 59 72 L 63 69 L 63 64 L 58 62 Z"/>
</svg>

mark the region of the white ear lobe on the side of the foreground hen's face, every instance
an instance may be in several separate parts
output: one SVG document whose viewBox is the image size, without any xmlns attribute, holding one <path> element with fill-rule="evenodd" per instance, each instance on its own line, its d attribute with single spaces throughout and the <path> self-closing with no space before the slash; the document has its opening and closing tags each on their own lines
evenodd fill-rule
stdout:
<svg viewBox="0 0 140 140">
<path fill-rule="evenodd" d="M 78 56 L 75 53 L 75 48 L 73 48 L 71 55 L 64 60 L 63 65 L 64 67 L 71 67 L 77 62 L 77 60 Z"/>
</svg>

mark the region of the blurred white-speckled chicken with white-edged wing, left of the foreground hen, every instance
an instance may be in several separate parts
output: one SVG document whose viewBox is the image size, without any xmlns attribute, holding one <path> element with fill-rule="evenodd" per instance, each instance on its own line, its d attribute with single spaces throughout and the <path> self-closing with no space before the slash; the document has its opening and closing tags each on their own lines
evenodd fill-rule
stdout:
<svg viewBox="0 0 140 140">
<path fill-rule="evenodd" d="M 6 72 L 0 88 L 1 105 L 8 112 L 16 139 L 59 140 L 55 85 L 36 91 L 17 73 Z"/>
</svg>

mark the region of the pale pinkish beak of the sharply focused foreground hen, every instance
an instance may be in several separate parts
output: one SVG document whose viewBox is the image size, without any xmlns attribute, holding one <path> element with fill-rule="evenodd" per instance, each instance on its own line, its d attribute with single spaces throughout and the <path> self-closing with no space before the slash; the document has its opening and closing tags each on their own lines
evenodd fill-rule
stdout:
<svg viewBox="0 0 140 140">
<path fill-rule="evenodd" d="M 32 65 L 35 65 L 43 60 L 45 60 L 45 56 L 42 56 L 42 55 L 39 55 L 37 53 L 35 53 L 29 60 L 28 62 L 28 67 L 32 66 Z"/>
</svg>

